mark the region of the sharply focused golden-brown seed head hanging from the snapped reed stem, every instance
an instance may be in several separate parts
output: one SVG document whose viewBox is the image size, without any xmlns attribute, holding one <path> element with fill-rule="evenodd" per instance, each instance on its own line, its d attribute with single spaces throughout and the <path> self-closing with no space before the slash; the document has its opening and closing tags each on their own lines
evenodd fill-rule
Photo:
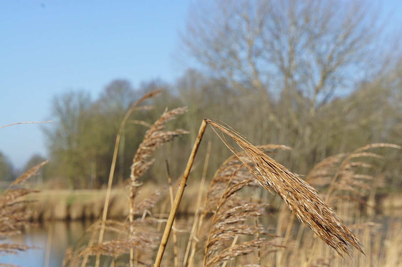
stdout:
<svg viewBox="0 0 402 267">
<path fill-rule="evenodd" d="M 234 130 L 206 120 L 211 126 L 231 137 L 243 149 L 245 157 L 254 162 L 257 171 L 251 167 L 248 169 L 255 175 L 258 182 L 270 192 L 276 192 L 297 218 L 309 226 L 340 256 L 343 257 L 343 253 L 346 253 L 351 257 L 349 245 L 364 254 L 360 241 L 340 222 L 332 208 L 317 195 L 314 188 L 262 153 Z M 218 136 L 220 137 L 219 134 Z M 221 137 L 221 140 L 224 141 L 224 138 Z M 224 143 L 236 154 L 227 142 L 224 141 Z"/>
</svg>

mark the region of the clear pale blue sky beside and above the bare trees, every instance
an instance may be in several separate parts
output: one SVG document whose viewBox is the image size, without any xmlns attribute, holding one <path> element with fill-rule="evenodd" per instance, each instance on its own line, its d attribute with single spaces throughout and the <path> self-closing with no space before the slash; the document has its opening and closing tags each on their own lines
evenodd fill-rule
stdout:
<svg viewBox="0 0 402 267">
<path fill-rule="evenodd" d="M 48 120 L 53 96 L 68 90 L 95 99 L 117 78 L 174 82 L 183 69 L 171 55 L 190 3 L 0 0 L 0 126 Z M 402 18 L 401 0 L 377 3 Z M 0 151 L 17 168 L 46 157 L 46 143 L 39 124 L 0 129 Z"/>
</svg>

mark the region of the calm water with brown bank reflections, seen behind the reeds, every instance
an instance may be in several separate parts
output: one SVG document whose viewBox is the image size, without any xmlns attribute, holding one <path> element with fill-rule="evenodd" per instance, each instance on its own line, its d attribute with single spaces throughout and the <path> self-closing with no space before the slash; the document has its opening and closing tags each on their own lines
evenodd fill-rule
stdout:
<svg viewBox="0 0 402 267">
<path fill-rule="evenodd" d="M 191 229 L 192 217 L 180 218 L 177 221 L 177 227 L 180 229 Z M 287 218 L 288 220 L 288 218 Z M 378 216 L 373 221 L 381 224 L 381 229 L 377 232 L 378 235 L 386 236 L 386 233 L 392 227 L 393 222 L 400 222 L 400 218 L 390 219 L 384 216 Z M 92 221 L 55 221 L 45 222 L 42 225 L 32 225 L 25 228 L 25 234 L 21 236 L 14 236 L 7 240 L 2 240 L 0 243 L 16 243 L 28 246 L 35 246 L 36 249 L 29 249 L 27 251 L 19 252 L 16 255 L 1 255 L 0 263 L 14 264 L 24 267 L 44 267 L 48 261 L 48 266 L 59 267 L 62 266 L 64 254 L 68 246 L 81 247 L 88 244 L 90 234 L 86 234 L 83 237 L 85 230 L 92 225 Z M 253 222 L 250 222 L 253 223 Z M 267 226 L 268 228 L 276 228 L 278 226 L 278 214 L 273 216 L 260 218 L 259 223 Z M 399 225 L 399 224 L 398 224 Z M 299 222 L 295 220 L 293 226 L 297 229 Z M 162 225 L 163 229 L 164 225 Z M 286 230 L 286 225 L 283 227 L 283 232 Z M 275 230 L 273 230 L 275 232 Z M 188 232 L 183 232 L 180 235 L 179 243 L 186 243 L 189 238 Z M 51 236 L 48 241 L 48 236 Z M 117 234 L 110 232 L 105 233 L 105 240 L 112 240 L 117 238 Z M 381 238 L 380 238 L 381 239 Z M 50 243 L 48 246 L 47 243 Z M 179 247 L 185 247 L 186 244 L 181 244 Z M 46 250 L 49 250 L 49 257 L 46 257 Z M 168 253 L 172 255 L 173 253 Z M 123 256 L 120 260 L 127 262 L 127 255 Z M 94 259 L 90 259 L 89 265 L 93 265 Z M 106 259 L 104 266 L 109 266 L 110 259 Z"/>
</svg>

